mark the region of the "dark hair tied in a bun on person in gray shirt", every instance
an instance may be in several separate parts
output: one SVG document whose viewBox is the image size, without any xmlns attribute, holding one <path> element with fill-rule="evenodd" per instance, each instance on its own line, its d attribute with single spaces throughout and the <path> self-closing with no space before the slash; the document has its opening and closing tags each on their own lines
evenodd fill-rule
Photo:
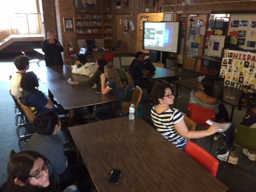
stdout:
<svg viewBox="0 0 256 192">
<path fill-rule="evenodd" d="M 36 125 L 36 132 L 50 135 L 54 132 L 55 126 L 59 124 L 59 117 L 53 111 L 41 113 L 36 116 L 34 124 Z"/>
</svg>

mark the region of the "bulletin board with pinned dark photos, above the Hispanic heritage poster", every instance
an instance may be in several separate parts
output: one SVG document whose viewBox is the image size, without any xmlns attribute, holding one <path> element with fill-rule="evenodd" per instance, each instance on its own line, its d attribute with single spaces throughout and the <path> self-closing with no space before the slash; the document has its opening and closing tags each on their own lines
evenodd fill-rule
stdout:
<svg viewBox="0 0 256 192">
<path fill-rule="evenodd" d="M 256 49 L 256 14 L 230 14 L 228 31 L 238 48 Z"/>
</svg>

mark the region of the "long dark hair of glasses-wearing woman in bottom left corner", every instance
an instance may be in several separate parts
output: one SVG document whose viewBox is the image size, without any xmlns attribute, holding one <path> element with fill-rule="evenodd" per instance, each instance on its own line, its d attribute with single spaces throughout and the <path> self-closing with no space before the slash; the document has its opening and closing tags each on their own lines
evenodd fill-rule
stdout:
<svg viewBox="0 0 256 192">
<path fill-rule="evenodd" d="M 35 151 L 21 151 L 9 160 L 8 162 L 8 178 L 7 183 L 8 186 L 10 186 L 13 191 L 30 191 L 30 192 L 36 192 L 36 191 L 48 191 L 49 186 L 46 188 L 33 186 L 28 182 L 28 176 L 30 176 L 30 170 L 34 166 L 35 160 L 38 160 L 39 158 L 42 158 L 44 162 L 48 161 L 47 158 L 42 156 L 40 153 Z M 14 183 L 14 179 L 18 178 L 22 183 L 25 184 L 25 186 L 18 186 Z M 48 189 L 48 190 L 46 190 Z"/>
</svg>

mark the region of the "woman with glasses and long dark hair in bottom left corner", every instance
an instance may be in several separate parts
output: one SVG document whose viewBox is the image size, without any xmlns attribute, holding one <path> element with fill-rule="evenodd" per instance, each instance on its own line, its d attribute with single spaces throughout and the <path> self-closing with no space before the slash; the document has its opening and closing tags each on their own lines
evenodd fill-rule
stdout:
<svg viewBox="0 0 256 192">
<path fill-rule="evenodd" d="M 14 154 L 8 162 L 8 178 L 1 192 L 61 192 L 49 174 L 49 160 L 34 151 Z M 63 192 L 79 192 L 69 186 Z"/>
</svg>

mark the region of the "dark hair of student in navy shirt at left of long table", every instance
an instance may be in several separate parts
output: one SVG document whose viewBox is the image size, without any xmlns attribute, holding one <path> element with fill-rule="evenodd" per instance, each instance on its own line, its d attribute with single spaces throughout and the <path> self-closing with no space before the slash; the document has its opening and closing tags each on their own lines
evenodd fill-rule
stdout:
<svg viewBox="0 0 256 192">
<path fill-rule="evenodd" d="M 34 72 L 30 71 L 22 75 L 20 80 L 20 87 L 23 88 L 23 90 L 33 90 L 38 86 L 38 79 Z"/>
</svg>

